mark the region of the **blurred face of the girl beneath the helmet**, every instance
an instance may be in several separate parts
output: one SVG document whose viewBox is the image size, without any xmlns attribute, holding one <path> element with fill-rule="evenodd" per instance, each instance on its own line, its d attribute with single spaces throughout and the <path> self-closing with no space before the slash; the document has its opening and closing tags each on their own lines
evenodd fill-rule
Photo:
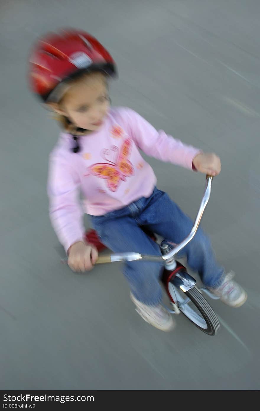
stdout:
<svg viewBox="0 0 260 411">
<path fill-rule="evenodd" d="M 102 126 L 109 106 L 105 76 L 92 73 L 71 86 L 59 104 L 59 112 L 77 127 L 97 131 Z"/>
</svg>

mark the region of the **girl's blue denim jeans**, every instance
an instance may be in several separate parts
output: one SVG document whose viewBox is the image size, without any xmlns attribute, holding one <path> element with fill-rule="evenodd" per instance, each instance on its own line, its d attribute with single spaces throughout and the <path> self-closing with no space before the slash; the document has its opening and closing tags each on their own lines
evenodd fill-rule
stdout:
<svg viewBox="0 0 260 411">
<path fill-rule="evenodd" d="M 91 216 L 93 228 L 104 245 L 113 252 L 139 252 L 161 255 L 160 247 L 140 226 L 163 236 L 176 244 L 188 236 L 193 226 L 187 217 L 163 191 L 154 189 L 149 198 L 137 201 L 101 216 Z M 221 284 L 223 267 L 215 260 L 209 238 L 201 228 L 184 247 L 179 257 L 186 256 L 188 265 L 197 271 L 205 286 Z M 123 272 L 137 300 L 156 305 L 162 300 L 160 277 L 163 264 L 133 261 L 124 264 Z"/>
</svg>

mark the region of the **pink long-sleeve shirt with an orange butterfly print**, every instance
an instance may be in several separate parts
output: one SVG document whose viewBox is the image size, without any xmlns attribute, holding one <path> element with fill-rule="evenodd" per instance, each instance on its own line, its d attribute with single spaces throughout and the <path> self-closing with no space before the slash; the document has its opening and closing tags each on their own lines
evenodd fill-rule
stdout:
<svg viewBox="0 0 260 411">
<path fill-rule="evenodd" d="M 187 169 L 200 152 L 124 107 L 111 108 L 101 128 L 80 136 L 79 145 L 81 150 L 72 152 L 72 136 L 63 132 L 49 159 L 49 214 L 66 252 L 84 238 L 84 212 L 103 215 L 152 194 L 156 176 L 138 148 Z"/>
</svg>

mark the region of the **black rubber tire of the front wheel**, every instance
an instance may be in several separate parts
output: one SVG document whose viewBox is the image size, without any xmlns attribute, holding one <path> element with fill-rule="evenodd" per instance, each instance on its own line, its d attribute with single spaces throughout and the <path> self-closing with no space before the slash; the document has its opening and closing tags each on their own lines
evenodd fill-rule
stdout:
<svg viewBox="0 0 260 411">
<path fill-rule="evenodd" d="M 217 335 L 220 330 L 220 323 L 218 321 L 218 317 L 216 316 L 215 312 L 213 311 L 213 309 L 211 308 L 207 300 L 205 300 L 205 298 L 202 296 L 200 291 L 198 291 L 196 287 L 193 287 L 190 290 L 186 291 L 185 294 L 188 298 L 190 298 L 193 304 L 200 311 L 204 320 L 207 323 L 208 328 L 207 329 L 201 328 L 200 326 L 195 324 L 192 320 L 190 320 L 188 317 L 186 318 L 188 318 L 189 321 L 191 321 L 197 328 L 205 332 L 207 335 L 211 335 L 212 337 L 214 335 Z"/>
</svg>

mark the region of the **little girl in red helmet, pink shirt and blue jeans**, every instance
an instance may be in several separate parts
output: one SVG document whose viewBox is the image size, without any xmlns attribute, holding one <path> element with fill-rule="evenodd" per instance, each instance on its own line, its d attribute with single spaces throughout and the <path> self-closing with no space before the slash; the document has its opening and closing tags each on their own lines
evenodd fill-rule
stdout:
<svg viewBox="0 0 260 411">
<path fill-rule="evenodd" d="M 160 248 L 140 226 L 175 243 L 193 225 L 169 196 L 156 187 L 156 176 L 138 149 L 164 162 L 209 175 L 221 171 L 214 154 L 157 132 L 135 111 L 110 107 L 107 81 L 116 75 L 111 55 L 91 35 L 78 30 L 50 34 L 35 45 L 30 58 L 30 84 L 55 111 L 63 132 L 50 155 L 48 195 L 53 228 L 73 271 L 93 268 L 97 249 L 84 239 L 84 211 L 100 240 L 113 252 L 158 254 Z M 84 196 L 82 210 L 79 190 Z M 245 291 L 215 260 L 202 229 L 183 255 L 204 285 L 223 302 L 239 307 Z M 124 274 L 137 312 L 168 331 L 172 316 L 161 305 L 160 263 L 128 262 Z"/>
</svg>

